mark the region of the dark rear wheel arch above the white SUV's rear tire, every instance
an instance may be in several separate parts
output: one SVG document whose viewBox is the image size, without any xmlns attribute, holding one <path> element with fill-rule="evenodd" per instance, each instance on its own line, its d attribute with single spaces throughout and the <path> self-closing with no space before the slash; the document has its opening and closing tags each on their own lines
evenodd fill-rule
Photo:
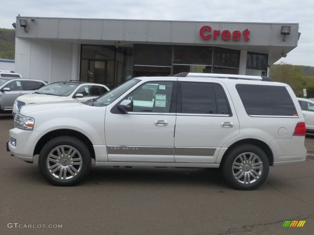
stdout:
<svg viewBox="0 0 314 235">
<path fill-rule="evenodd" d="M 228 154 L 235 149 L 237 146 L 240 146 L 242 144 L 252 144 L 255 145 L 257 147 L 259 147 L 260 149 L 263 150 L 263 152 L 266 154 L 268 161 L 269 161 L 269 165 L 272 166 L 273 165 L 273 152 L 272 150 L 269 148 L 268 144 L 266 144 L 265 142 L 258 140 L 258 139 L 253 139 L 253 138 L 247 138 L 247 139 L 241 139 L 233 144 L 231 144 L 229 146 L 229 148 L 227 149 L 227 151 L 224 153 L 220 164 L 224 162 L 226 156 L 228 156 Z"/>
</svg>

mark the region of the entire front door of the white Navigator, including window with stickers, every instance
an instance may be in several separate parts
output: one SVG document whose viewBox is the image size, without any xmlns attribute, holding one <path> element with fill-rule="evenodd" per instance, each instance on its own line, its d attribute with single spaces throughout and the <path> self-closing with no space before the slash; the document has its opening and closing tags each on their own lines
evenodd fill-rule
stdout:
<svg viewBox="0 0 314 235">
<path fill-rule="evenodd" d="M 124 98 L 133 101 L 133 112 L 106 109 L 109 161 L 174 162 L 176 113 L 170 112 L 174 89 L 171 81 L 148 82 Z"/>
</svg>

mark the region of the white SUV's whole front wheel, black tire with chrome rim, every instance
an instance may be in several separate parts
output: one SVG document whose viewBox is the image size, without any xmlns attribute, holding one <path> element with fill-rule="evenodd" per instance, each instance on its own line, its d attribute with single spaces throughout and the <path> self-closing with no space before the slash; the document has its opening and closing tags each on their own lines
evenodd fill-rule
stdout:
<svg viewBox="0 0 314 235">
<path fill-rule="evenodd" d="M 38 166 L 49 183 L 72 186 L 88 175 L 91 155 L 78 138 L 60 136 L 48 141 L 41 149 Z"/>
</svg>

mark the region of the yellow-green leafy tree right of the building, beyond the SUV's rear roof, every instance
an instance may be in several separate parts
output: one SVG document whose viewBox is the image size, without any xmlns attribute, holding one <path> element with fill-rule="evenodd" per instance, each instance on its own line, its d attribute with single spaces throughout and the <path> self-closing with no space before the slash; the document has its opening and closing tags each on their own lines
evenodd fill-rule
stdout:
<svg viewBox="0 0 314 235">
<path fill-rule="evenodd" d="M 296 96 L 303 94 L 307 82 L 303 79 L 303 71 L 300 66 L 290 65 L 281 62 L 279 65 L 272 65 L 269 76 L 274 81 L 283 82 L 291 86 Z"/>
</svg>

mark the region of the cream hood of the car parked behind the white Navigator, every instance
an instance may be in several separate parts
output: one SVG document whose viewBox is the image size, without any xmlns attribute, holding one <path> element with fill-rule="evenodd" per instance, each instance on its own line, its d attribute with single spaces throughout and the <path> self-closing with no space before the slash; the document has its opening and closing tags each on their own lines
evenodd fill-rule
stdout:
<svg viewBox="0 0 314 235">
<path fill-rule="evenodd" d="M 44 95 L 44 94 L 26 94 L 17 98 L 18 101 L 24 102 L 25 104 L 31 103 L 42 103 L 42 102 L 54 102 L 54 101 L 64 101 L 72 100 L 72 97 L 68 96 L 53 96 L 53 95 Z"/>
</svg>

